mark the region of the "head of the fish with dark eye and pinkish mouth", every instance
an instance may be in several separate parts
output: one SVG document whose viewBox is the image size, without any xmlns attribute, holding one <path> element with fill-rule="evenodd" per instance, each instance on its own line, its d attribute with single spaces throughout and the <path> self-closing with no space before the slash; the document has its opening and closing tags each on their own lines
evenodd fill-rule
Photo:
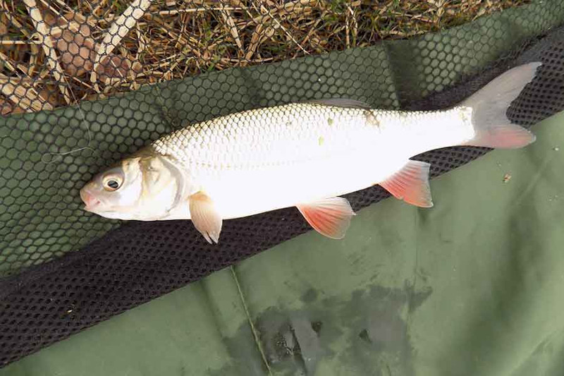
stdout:
<svg viewBox="0 0 564 376">
<path fill-rule="evenodd" d="M 178 169 L 158 155 L 123 159 L 80 189 L 84 210 L 112 219 L 161 219 L 178 203 Z"/>
</svg>

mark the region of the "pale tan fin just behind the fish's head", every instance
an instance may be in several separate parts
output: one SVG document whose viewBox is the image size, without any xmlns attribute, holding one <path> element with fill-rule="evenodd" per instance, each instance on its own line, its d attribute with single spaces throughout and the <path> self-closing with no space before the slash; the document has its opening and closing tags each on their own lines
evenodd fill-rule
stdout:
<svg viewBox="0 0 564 376">
<path fill-rule="evenodd" d="M 190 217 L 197 231 L 200 231 L 208 243 L 219 243 L 223 220 L 219 217 L 213 200 L 202 191 L 190 195 L 188 200 Z"/>
</svg>

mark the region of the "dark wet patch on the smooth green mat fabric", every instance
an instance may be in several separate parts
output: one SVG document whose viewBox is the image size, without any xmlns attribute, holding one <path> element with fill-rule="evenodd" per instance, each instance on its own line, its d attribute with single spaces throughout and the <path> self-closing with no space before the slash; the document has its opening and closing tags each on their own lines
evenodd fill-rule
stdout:
<svg viewBox="0 0 564 376">
<path fill-rule="evenodd" d="M 302 310 L 271 307 L 254 318 L 261 349 L 251 354 L 238 344 L 252 335 L 248 325 L 226 339 L 238 359 L 209 375 L 265 375 L 257 363 L 260 351 L 275 375 L 315 375 L 319 362 L 336 358 L 339 367 L 358 375 L 412 375 L 413 348 L 407 319 L 431 295 L 430 287 L 401 289 L 371 286 L 353 291 L 348 300 L 320 298 L 311 289 Z"/>
</svg>

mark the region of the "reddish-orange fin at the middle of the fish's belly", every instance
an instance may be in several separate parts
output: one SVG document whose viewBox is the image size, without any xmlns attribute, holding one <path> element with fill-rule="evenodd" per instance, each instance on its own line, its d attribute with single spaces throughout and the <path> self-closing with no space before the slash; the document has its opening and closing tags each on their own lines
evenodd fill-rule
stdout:
<svg viewBox="0 0 564 376">
<path fill-rule="evenodd" d="M 345 237 L 350 218 L 355 215 L 345 198 L 324 198 L 307 204 L 296 205 L 307 223 L 319 234 L 333 239 Z"/>
</svg>

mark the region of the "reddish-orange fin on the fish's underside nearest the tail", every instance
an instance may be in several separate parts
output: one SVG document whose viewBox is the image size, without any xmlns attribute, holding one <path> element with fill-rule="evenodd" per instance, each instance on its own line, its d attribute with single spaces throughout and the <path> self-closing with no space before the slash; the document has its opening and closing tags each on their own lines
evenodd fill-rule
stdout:
<svg viewBox="0 0 564 376">
<path fill-rule="evenodd" d="M 427 162 L 409 160 L 400 171 L 379 183 L 398 200 L 419 207 L 432 207 Z"/>
</svg>

